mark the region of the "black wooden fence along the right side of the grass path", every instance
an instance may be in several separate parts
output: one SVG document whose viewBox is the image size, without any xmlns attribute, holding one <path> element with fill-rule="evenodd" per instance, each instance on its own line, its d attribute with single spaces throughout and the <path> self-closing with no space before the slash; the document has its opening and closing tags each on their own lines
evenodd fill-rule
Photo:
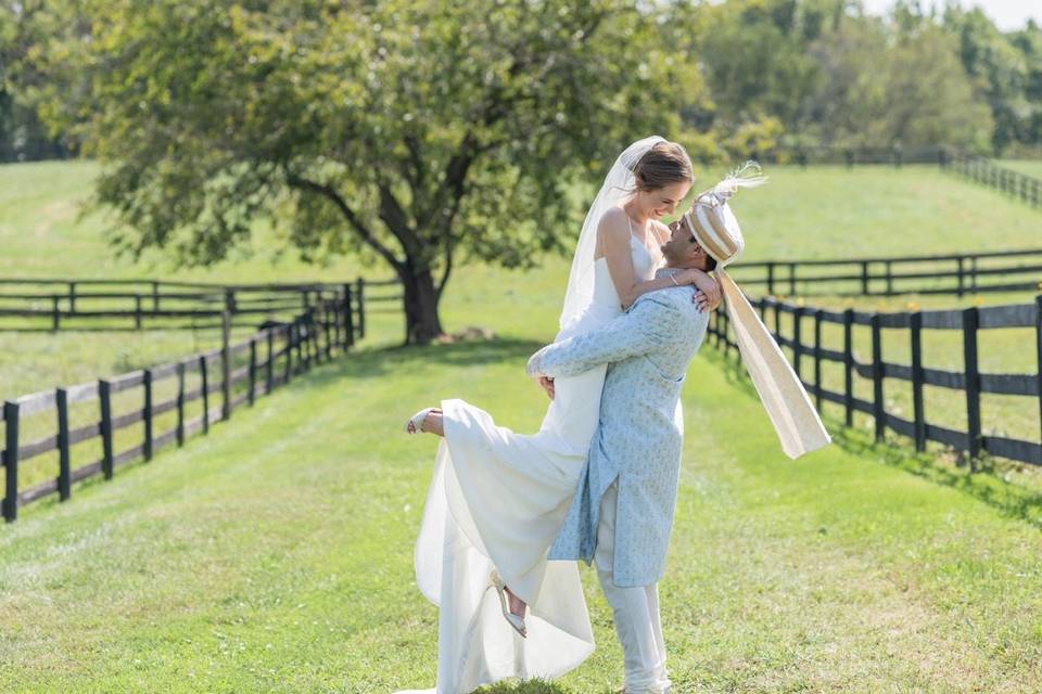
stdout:
<svg viewBox="0 0 1042 694">
<path fill-rule="evenodd" d="M 984 435 L 981 430 L 981 394 L 1001 394 L 1031 398 L 1030 406 L 1042 422 L 1042 295 L 1033 304 L 973 307 L 955 310 L 926 310 L 911 312 L 864 312 L 847 309 L 830 311 L 821 308 L 797 306 L 761 297 L 752 300 L 760 310 L 764 324 L 771 329 L 779 346 L 791 349 L 791 363 L 813 396 L 818 411 L 822 403 L 835 402 L 843 408 L 846 424 L 853 423 L 854 412 L 864 412 L 874 419 L 875 436 L 881 440 L 887 428 L 907 436 L 915 441 L 916 450 L 924 450 L 926 441 L 939 441 L 958 451 L 965 451 L 970 461 L 982 452 L 1015 461 L 1042 465 L 1042 445 L 1003 436 Z M 792 316 L 791 334 L 782 334 L 782 314 Z M 812 331 L 803 330 L 804 322 L 813 321 Z M 842 326 L 842 344 L 826 345 L 822 339 L 822 326 L 835 323 Z M 708 338 L 725 355 L 735 351 L 737 344 L 729 332 L 730 321 L 721 308 L 710 321 Z M 872 358 L 859 361 L 854 358 L 853 326 L 867 325 L 872 332 Z M 1031 345 L 1035 352 L 1034 373 L 981 373 L 978 363 L 978 335 L 980 331 L 1003 327 L 1029 327 L 1034 330 Z M 887 361 L 882 354 L 884 329 L 906 331 L 911 348 L 911 363 Z M 963 371 L 930 369 L 923 365 L 923 331 L 960 331 L 963 344 Z M 822 380 L 823 362 L 842 365 L 842 390 L 829 390 Z M 854 396 L 854 375 L 872 381 L 872 399 Z M 904 419 L 886 410 L 884 380 L 895 378 L 911 382 L 913 417 Z M 923 391 L 925 386 L 936 386 L 962 391 L 965 398 L 966 430 L 956 430 L 932 424 L 927 420 Z M 1027 402 L 1027 401 L 1026 401 Z"/>
</svg>

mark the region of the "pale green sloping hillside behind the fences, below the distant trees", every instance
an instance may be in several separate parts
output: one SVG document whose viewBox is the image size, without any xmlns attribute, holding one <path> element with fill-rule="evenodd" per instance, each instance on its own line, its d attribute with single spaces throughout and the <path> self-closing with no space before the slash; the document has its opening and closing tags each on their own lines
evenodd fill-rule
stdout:
<svg viewBox="0 0 1042 694">
<path fill-rule="evenodd" d="M 78 219 L 99 167 L 92 162 L 0 166 L 0 277 L 169 277 L 160 254 L 134 265 L 114 259 L 105 241 L 111 220 L 99 213 Z M 723 167 L 698 171 L 692 191 L 711 187 Z M 1042 244 L 1042 215 L 1000 193 L 935 166 L 894 169 L 862 166 L 768 166 L 768 184 L 742 191 L 734 206 L 747 230 L 745 259 L 849 255 L 931 254 L 1030 247 Z M 587 195 L 576 192 L 576 201 Z M 577 203 L 579 204 L 579 203 Z M 581 206 L 585 208 L 585 203 Z M 583 210 L 576 210 L 576 214 Z M 561 233 L 573 237 L 581 220 Z M 177 277 L 226 281 L 339 280 L 360 267 L 352 259 L 328 268 L 307 266 L 292 252 L 278 256 L 281 239 L 259 226 L 250 248 L 205 270 Z M 272 261 L 276 265 L 272 265 Z M 567 262 L 550 259 L 558 275 Z M 384 268 L 378 272 L 389 274 Z M 466 280 L 466 271 L 461 272 Z"/>
</svg>

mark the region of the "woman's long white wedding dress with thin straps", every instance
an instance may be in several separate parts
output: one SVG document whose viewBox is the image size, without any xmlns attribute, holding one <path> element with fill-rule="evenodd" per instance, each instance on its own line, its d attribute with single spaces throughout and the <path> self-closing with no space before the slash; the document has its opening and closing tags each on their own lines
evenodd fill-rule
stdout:
<svg viewBox="0 0 1042 694">
<path fill-rule="evenodd" d="M 652 279 L 661 254 L 630 241 L 637 278 Z M 596 260 L 593 300 L 557 339 L 600 327 L 619 316 L 620 305 L 607 260 Z M 558 378 L 532 436 L 496 426 L 462 400 L 442 402 L 445 438 L 415 555 L 420 591 L 441 607 L 437 686 L 423 692 L 466 694 L 509 677 L 556 678 L 593 652 L 577 564 L 546 555 L 586 461 L 603 380 L 603 368 Z M 528 639 L 500 613 L 488 581 L 493 567 L 529 604 Z"/>
</svg>

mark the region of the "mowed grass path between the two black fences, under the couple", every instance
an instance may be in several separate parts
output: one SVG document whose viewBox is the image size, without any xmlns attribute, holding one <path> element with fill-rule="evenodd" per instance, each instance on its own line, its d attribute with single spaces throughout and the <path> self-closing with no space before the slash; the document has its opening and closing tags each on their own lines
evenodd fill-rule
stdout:
<svg viewBox="0 0 1042 694">
<path fill-rule="evenodd" d="M 412 580 L 435 448 L 399 433 L 441 397 L 533 430 L 538 345 L 363 351 L 207 438 L 0 528 L 0 691 L 389 692 L 434 682 L 436 611 Z M 1042 537 L 965 493 L 839 446 L 792 462 L 708 354 L 661 583 L 674 691 L 1038 692 Z M 622 677 L 598 650 L 552 686 Z"/>
</svg>

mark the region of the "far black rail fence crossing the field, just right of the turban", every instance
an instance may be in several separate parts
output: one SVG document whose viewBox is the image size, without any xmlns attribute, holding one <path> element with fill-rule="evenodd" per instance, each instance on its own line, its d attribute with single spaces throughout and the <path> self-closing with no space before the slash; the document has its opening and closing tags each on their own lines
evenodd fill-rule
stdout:
<svg viewBox="0 0 1042 694">
<path fill-rule="evenodd" d="M 1042 249 L 763 260 L 739 262 L 729 271 L 741 286 L 758 287 L 774 296 L 963 296 L 1042 288 Z"/>
</svg>

